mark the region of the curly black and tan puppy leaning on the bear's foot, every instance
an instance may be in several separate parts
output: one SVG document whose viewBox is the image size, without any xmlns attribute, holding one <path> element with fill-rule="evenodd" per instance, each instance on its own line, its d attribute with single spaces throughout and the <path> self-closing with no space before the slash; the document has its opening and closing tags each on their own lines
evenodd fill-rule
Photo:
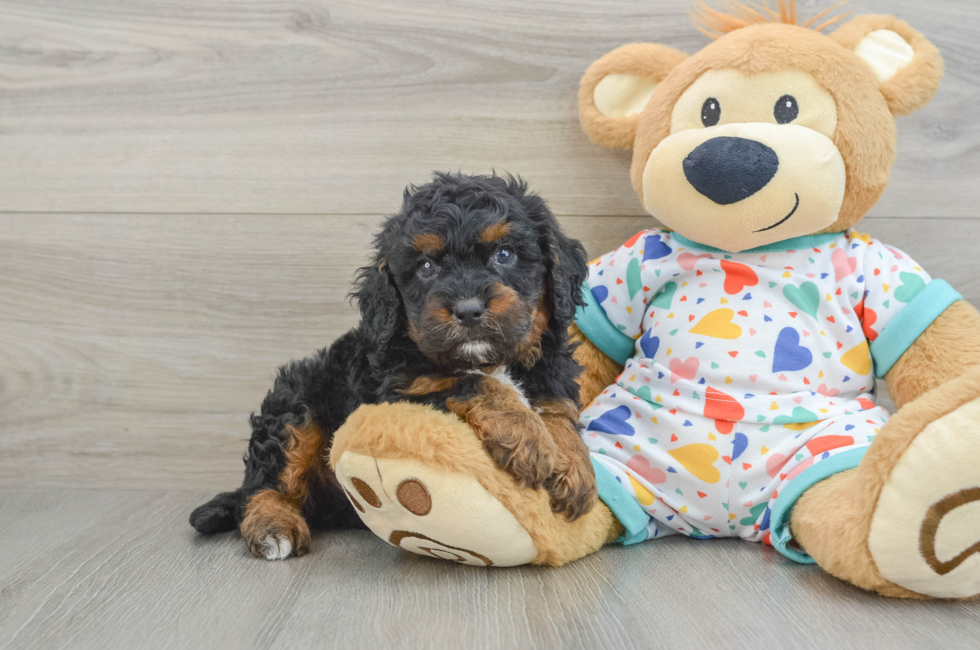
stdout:
<svg viewBox="0 0 980 650">
<path fill-rule="evenodd" d="M 456 413 L 518 482 L 547 489 L 555 512 L 588 512 L 595 477 L 566 337 L 582 245 L 520 180 L 436 174 L 406 190 L 375 248 L 353 293 L 360 324 L 279 370 L 251 417 L 242 486 L 194 510 L 191 525 L 238 526 L 268 559 L 304 553 L 311 527 L 363 527 L 326 456 L 358 406 L 391 401 Z"/>
</svg>

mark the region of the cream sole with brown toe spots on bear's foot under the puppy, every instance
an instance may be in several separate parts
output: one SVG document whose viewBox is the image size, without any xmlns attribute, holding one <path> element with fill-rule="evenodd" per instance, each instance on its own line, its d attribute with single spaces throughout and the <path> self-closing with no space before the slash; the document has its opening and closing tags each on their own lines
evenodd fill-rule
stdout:
<svg viewBox="0 0 980 650">
<path fill-rule="evenodd" d="M 468 476 L 350 451 L 336 474 L 365 525 L 406 551 L 473 566 L 516 566 L 537 555 L 514 515 Z"/>
</svg>

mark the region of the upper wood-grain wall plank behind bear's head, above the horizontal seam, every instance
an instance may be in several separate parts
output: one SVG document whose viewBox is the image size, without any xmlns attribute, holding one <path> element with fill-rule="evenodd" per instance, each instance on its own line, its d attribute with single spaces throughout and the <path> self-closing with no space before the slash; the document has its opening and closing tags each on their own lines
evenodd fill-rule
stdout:
<svg viewBox="0 0 980 650">
<path fill-rule="evenodd" d="M 562 214 L 639 215 L 577 84 L 624 43 L 703 47 L 692 2 L 0 0 L 0 212 L 377 214 L 432 169 L 496 168 Z M 980 3 L 851 8 L 947 65 L 873 214 L 973 216 Z"/>
</svg>

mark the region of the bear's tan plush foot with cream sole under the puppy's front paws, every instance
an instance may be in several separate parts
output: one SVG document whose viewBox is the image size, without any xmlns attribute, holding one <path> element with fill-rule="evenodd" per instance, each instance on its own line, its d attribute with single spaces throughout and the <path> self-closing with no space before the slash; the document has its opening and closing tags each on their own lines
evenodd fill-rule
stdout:
<svg viewBox="0 0 980 650">
<path fill-rule="evenodd" d="M 500 469 L 470 427 L 414 404 L 361 406 L 334 435 L 330 466 L 384 541 L 475 566 L 558 566 L 622 532 L 602 503 L 569 522 L 544 489 Z"/>
</svg>

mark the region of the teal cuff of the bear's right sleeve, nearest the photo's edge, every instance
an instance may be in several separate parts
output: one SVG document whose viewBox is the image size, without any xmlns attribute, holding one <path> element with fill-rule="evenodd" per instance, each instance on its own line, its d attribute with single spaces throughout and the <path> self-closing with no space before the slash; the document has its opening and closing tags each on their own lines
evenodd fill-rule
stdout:
<svg viewBox="0 0 980 650">
<path fill-rule="evenodd" d="M 963 296 L 945 280 L 927 284 L 871 342 L 875 376 L 881 378 L 888 374 L 909 346 L 957 300 L 963 300 Z"/>
</svg>

